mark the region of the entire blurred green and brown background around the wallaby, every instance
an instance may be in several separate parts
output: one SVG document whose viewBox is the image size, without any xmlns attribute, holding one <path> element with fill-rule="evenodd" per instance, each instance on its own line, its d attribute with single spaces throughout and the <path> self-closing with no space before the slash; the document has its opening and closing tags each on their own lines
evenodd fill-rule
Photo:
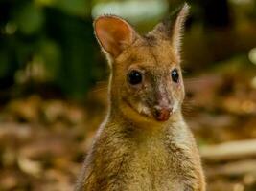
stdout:
<svg viewBox="0 0 256 191">
<path fill-rule="evenodd" d="M 184 116 L 209 191 L 256 190 L 256 0 L 188 0 Z M 105 117 L 98 15 L 147 32 L 180 0 L 0 1 L 0 190 L 72 190 Z"/>
</svg>

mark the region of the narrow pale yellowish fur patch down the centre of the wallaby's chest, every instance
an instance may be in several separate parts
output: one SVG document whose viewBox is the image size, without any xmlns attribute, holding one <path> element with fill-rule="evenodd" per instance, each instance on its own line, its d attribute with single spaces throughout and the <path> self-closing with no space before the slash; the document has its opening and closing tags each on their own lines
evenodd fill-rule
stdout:
<svg viewBox="0 0 256 191">
<path fill-rule="evenodd" d="M 164 141 L 149 139 L 137 145 L 123 164 L 127 171 L 125 190 L 183 190 L 182 181 Z M 179 187 L 179 188 L 178 188 Z"/>
</svg>

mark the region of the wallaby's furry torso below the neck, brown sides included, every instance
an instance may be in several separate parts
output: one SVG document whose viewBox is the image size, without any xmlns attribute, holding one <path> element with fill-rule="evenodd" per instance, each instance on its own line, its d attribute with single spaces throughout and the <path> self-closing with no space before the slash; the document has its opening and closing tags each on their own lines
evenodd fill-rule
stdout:
<svg viewBox="0 0 256 191">
<path fill-rule="evenodd" d="M 200 180 L 194 138 L 179 125 L 157 136 L 101 132 L 85 161 L 85 190 L 200 190 L 194 189 Z"/>
</svg>

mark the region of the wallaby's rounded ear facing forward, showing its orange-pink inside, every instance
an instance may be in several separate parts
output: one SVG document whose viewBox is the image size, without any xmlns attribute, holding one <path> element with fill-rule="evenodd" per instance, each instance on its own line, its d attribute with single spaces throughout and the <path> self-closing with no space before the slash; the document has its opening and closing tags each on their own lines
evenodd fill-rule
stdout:
<svg viewBox="0 0 256 191">
<path fill-rule="evenodd" d="M 136 37 L 136 32 L 128 22 L 117 16 L 98 17 L 94 21 L 94 31 L 101 47 L 112 57 L 122 53 Z"/>
</svg>

